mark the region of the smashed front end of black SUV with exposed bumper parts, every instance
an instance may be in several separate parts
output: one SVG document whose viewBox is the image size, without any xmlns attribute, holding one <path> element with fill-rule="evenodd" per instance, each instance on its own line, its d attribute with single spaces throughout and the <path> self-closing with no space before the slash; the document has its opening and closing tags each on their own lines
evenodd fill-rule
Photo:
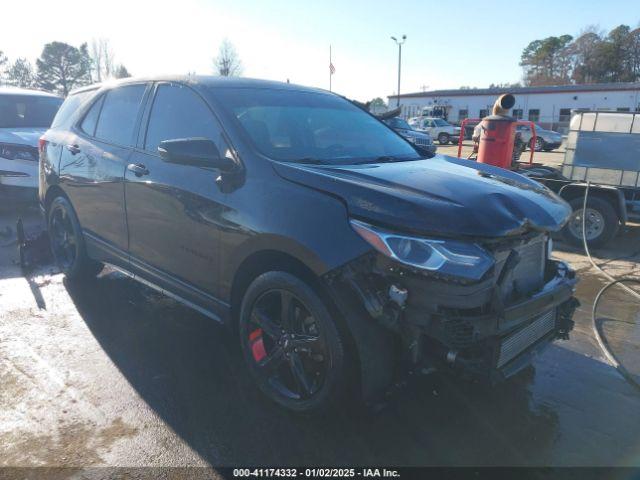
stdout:
<svg viewBox="0 0 640 480">
<path fill-rule="evenodd" d="M 383 375 L 397 373 L 399 365 L 403 369 L 428 366 L 496 382 L 526 367 L 553 340 L 567 339 L 578 306 L 573 270 L 546 258 L 545 250 L 541 276 L 532 283 L 528 278 L 535 275 L 518 266 L 531 263 L 531 256 L 514 255 L 517 248 L 513 244 L 496 247 L 496 266 L 480 282 L 438 277 L 377 253 L 332 271 L 326 282 L 345 316 L 365 318 L 359 329 L 352 329 L 356 344 L 358 335 L 367 330 L 363 322 L 391 334 L 393 348 L 387 350 L 393 350 L 395 360 Z M 525 274 L 527 278 L 522 278 Z M 359 348 L 361 354 L 365 348 Z M 370 364 L 365 360 L 362 369 Z M 380 368 L 379 361 L 375 368 Z M 375 372 L 363 374 L 378 385 L 384 383 L 375 378 Z"/>
</svg>

